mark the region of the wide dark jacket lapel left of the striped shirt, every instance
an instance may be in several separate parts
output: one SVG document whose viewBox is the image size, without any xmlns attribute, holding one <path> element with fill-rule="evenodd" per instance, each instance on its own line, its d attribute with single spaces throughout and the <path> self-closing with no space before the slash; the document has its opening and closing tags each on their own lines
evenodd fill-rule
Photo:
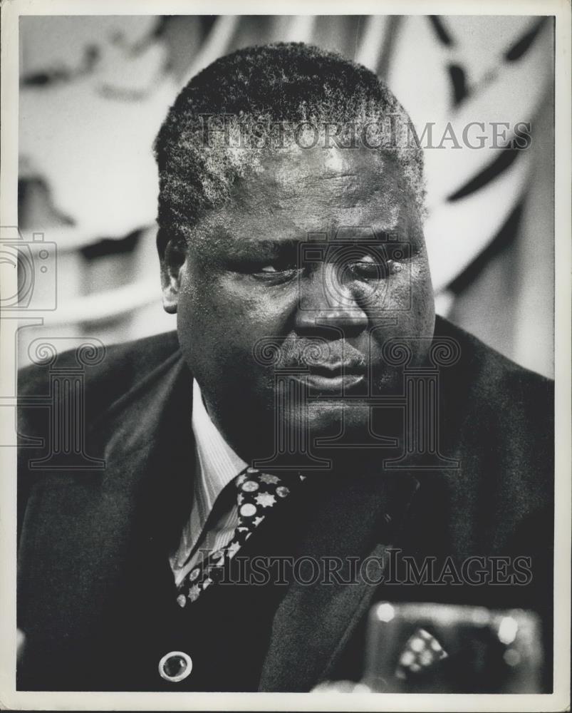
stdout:
<svg viewBox="0 0 572 713">
<path fill-rule="evenodd" d="M 134 563 L 180 535 L 192 496 L 191 412 L 192 379 L 177 352 L 93 423 L 90 453 L 103 456 L 103 472 L 41 478 L 20 555 L 30 632 L 56 642 L 99 635 Z"/>
</svg>

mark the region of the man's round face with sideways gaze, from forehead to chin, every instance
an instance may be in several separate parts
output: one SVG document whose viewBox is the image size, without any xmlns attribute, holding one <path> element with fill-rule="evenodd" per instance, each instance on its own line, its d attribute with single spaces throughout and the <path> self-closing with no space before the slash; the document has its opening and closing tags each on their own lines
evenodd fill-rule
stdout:
<svg viewBox="0 0 572 713">
<path fill-rule="evenodd" d="M 342 424 L 359 440 L 365 396 L 401 389 L 384 344 L 405 339 L 410 364 L 427 354 L 435 312 L 420 219 L 399 165 L 365 148 L 268 155 L 207 212 L 178 263 L 170 250 L 166 260 L 184 358 L 246 460 Z"/>
</svg>

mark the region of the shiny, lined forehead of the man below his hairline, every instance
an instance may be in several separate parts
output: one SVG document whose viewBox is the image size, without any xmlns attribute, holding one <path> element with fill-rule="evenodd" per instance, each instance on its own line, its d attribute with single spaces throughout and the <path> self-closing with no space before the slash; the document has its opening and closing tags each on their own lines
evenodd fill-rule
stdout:
<svg viewBox="0 0 572 713">
<path fill-rule="evenodd" d="M 287 237 L 341 226 L 391 232 L 409 212 L 407 198 L 395 162 L 373 151 L 298 148 L 259 157 L 204 227 L 236 234 L 274 222 Z"/>
</svg>

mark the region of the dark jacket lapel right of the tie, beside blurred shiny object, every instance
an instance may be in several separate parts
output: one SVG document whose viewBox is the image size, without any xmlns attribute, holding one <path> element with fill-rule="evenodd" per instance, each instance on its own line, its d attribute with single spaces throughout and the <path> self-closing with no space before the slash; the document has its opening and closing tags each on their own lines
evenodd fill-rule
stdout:
<svg viewBox="0 0 572 713">
<path fill-rule="evenodd" d="M 274 617 L 261 691 L 308 691 L 333 672 L 345 644 L 368 610 L 387 548 L 395 542 L 417 480 L 405 473 L 333 478 L 308 476 L 296 514 L 296 556 L 319 564 L 301 568 Z M 293 533 L 294 534 L 294 533 Z M 360 565 L 371 557 L 368 573 Z M 328 565 L 328 558 L 330 564 Z M 336 567 L 336 575 L 325 569 Z M 357 564 L 356 564 L 357 563 Z M 357 576 L 356 576 L 357 568 Z M 369 581 L 368 581 L 369 579 Z"/>
</svg>

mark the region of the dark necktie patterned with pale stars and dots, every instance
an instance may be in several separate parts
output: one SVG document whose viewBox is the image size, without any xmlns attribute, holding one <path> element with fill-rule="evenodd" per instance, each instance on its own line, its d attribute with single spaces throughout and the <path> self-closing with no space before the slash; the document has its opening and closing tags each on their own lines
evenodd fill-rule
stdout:
<svg viewBox="0 0 572 713">
<path fill-rule="evenodd" d="M 177 604 L 180 607 L 186 606 L 187 602 L 196 602 L 204 590 L 222 578 L 224 565 L 232 560 L 269 511 L 279 507 L 281 501 L 286 500 L 291 490 L 305 478 L 301 473 L 288 473 L 286 477 L 274 476 L 261 473 L 256 468 L 246 468 L 236 477 L 234 482 L 238 490 L 236 507 L 239 524 L 224 548 L 204 558 L 182 580 L 177 588 Z"/>
</svg>

